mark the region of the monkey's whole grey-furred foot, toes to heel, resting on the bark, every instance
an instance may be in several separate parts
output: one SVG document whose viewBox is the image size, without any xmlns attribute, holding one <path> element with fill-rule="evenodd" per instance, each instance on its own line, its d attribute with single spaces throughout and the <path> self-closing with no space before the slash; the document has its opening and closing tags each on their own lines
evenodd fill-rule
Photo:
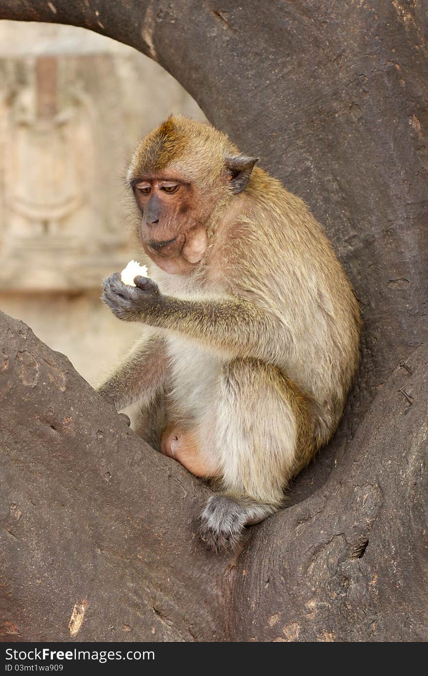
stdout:
<svg viewBox="0 0 428 676">
<path fill-rule="evenodd" d="M 208 500 L 202 510 L 199 535 L 214 552 L 234 550 L 245 526 L 260 523 L 278 509 L 277 504 L 264 504 L 251 498 L 237 500 L 217 494 Z"/>
</svg>

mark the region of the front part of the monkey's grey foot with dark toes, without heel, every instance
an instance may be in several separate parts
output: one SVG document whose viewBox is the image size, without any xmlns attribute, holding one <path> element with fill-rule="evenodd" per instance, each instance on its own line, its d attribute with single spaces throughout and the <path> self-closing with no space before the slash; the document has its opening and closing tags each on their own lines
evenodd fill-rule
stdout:
<svg viewBox="0 0 428 676">
<path fill-rule="evenodd" d="M 234 550 L 248 520 L 248 510 L 224 496 L 210 498 L 201 513 L 199 535 L 214 552 Z"/>
</svg>

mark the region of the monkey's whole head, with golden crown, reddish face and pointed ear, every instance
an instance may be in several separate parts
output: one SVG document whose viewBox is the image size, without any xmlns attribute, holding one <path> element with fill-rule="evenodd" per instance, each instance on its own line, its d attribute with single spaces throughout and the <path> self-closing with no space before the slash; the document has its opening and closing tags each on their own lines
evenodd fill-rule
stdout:
<svg viewBox="0 0 428 676">
<path fill-rule="evenodd" d="M 209 124 L 171 116 L 149 132 L 126 174 L 141 214 L 139 239 L 162 270 L 187 274 L 204 258 L 207 233 L 241 193 L 256 158 Z"/>
</svg>

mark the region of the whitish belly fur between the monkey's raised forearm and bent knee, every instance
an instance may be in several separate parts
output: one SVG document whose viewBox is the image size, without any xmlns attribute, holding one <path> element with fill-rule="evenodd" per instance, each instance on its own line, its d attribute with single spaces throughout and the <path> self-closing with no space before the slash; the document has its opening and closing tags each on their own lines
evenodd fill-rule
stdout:
<svg viewBox="0 0 428 676">
<path fill-rule="evenodd" d="M 168 350 L 172 409 L 186 420 L 200 420 L 215 409 L 222 360 L 182 337 L 170 337 Z"/>
</svg>

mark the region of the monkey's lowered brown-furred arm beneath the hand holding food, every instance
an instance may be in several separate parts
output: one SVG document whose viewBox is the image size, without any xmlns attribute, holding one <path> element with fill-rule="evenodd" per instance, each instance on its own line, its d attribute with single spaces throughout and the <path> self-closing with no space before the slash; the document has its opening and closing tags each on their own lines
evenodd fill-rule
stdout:
<svg viewBox="0 0 428 676">
<path fill-rule="evenodd" d="M 148 403 L 165 381 L 167 364 L 164 338 L 150 335 L 131 349 L 116 371 L 96 387 L 97 392 L 117 410 L 137 400 Z"/>
</svg>

